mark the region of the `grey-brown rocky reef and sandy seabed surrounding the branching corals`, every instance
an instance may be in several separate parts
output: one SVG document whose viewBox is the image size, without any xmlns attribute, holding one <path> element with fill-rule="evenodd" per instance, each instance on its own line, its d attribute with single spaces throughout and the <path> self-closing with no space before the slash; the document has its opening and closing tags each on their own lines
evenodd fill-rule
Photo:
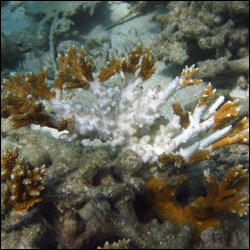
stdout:
<svg viewBox="0 0 250 250">
<path fill-rule="evenodd" d="M 249 1 L 1 1 L 2 80 L 46 68 L 50 83 L 58 55 L 72 46 L 83 46 L 93 72 L 100 72 L 110 58 L 138 44 L 157 58 L 147 86 L 170 82 L 195 64 L 198 78 L 239 99 L 240 115 L 249 117 Z M 202 87 L 175 98 L 193 107 Z M 87 90 L 74 89 L 66 98 L 92 102 Z M 171 104 L 161 110 L 169 120 Z M 1 153 L 18 149 L 34 168 L 46 165 L 43 200 L 24 214 L 4 206 L 1 182 L 1 249 L 249 248 L 249 215 L 222 214 L 220 227 L 197 236 L 190 222 L 175 224 L 152 209 L 144 188 L 149 166 L 135 154 L 98 140 L 58 138 L 35 125 L 11 130 L 1 120 Z M 178 204 L 206 195 L 204 169 L 218 180 L 238 164 L 248 169 L 248 146 L 231 145 L 190 167 Z"/>
</svg>

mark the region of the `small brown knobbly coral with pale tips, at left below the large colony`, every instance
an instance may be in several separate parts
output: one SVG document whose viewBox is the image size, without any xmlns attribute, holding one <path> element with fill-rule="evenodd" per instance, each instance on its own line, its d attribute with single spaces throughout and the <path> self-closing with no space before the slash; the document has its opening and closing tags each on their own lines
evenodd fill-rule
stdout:
<svg viewBox="0 0 250 250">
<path fill-rule="evenodd" d="M 44 189 L 42 178 L 45 165 L 40 168 L 27 169 L 23 159 L 18 159 L 18 151 L 3 154 L 1 159 L 2 179 L 6 182 L 3 203 L 13 212 L 23 213 L 36 203 L 42 201 Z"/>
</svg>

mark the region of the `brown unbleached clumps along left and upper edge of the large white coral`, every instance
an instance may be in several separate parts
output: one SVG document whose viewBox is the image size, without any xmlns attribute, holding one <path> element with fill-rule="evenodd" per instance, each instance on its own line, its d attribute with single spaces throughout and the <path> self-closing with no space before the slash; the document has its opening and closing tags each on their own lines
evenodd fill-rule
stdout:
<svg viewBox="0 0 250 250">
<path fill-rule="evenodd" d="M 141 65 L 139 64 L 142 58 Z M 155 72 L 155 58 L 148 49 L 143 49 L 141 45 L 128 52 L 128 59 L 122 55 L 119 59 L 111 59 L 107 68 L 103 69 L 98 80 L 104 82 L 116 73 L 128 72 L 134 74 L 140 68 L 138 73 L 144 80 L 151 77 Z M 58 56 L 59 70 L 53 83 L 56 91 L 51 91 L 46 83 L 47 71 L 37 75 L 29 73 L 12 74 L 10 79 L 5 80 L 1 97 L 1 117 L 9 118 L 9 126 L 17 129 L 30 124 L 48 126 L 58 131 L 71 131 L 70 119 L 55 119 L 43 104 L 43 101 L 51 101 L 60 97 L 63 89 L 84 88 L 88 89 L 90 83 L 94 80 L 92 75 L 92 59 L 86 58 L 86 52 L 83 48 L 79 51 L 71 47 L 65 56 Z"/>
</svg>

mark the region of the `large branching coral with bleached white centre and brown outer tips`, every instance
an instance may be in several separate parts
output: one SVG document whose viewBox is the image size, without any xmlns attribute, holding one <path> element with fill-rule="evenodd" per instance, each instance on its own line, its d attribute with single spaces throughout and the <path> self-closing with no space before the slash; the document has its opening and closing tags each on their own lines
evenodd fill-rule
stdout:
<svg viewBox="0 0 250 250">
<path fill-rule="evenodd" d="M 239 119 L 237 100 L 224 102 L 225 97 L 220 96 L 211 104 L 215 90 L 210 83 L 193 112 L 184 112 L 177 103 L 173 106 L 173 119 L 159 122 L 159 109 L 166 100 L 178 90 L 202 82 L 195 79 L 198 69 L 194 66 L 186 67 L 180 77 L 164 87 L 144 88 L 144 82 L 156 70 L 155 57 L 149 49 L 139 45 L 128 57 L 112 58 L 96 80 L 92 60 L 85 59 L 85 54 L 82 48 L 79 53 L 70 48 L 65 56 L 59 56 L 55 92 L 46 86 L 46 72 L 26 77 L 13 75 L 6 80 L 2 116 L 9 118 L 13 128 L 34 123 L 59 131 L 66 129 L 68 133 L 61 138 L 67 141 L 97 138 L 112 147 L 133 150 L 144 163 L 154 163 L 159 158 L 160 165 L 192 164 L 208 158 L 218 148 L 247 140 L 246 118 L 231 125 Z M 115 78 L 116 74 L 120 79 Z M 114 86 L 108 83 L 110 78 L 117 81 Z M 95 97 L 93 104 L 64 100 L 64 89 L 71 88 L 88 89 Z M 153 129 L 153 125 L 158 129 Z"/>
</svg>

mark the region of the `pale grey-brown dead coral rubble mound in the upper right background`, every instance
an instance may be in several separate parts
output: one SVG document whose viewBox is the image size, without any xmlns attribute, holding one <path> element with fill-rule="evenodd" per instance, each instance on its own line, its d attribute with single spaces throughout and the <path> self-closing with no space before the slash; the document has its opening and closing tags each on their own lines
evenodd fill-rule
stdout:
<svg viewBox="0 0 250 250">
<path fill-rule="evenodd" d="M 156 17 L 161 31 L 154 53 L 159 58 L 179 65 L 195 62 L 202 78 L 248 74 L 248 1 L 170 1 L 167 8 Z"/>
</svg>

